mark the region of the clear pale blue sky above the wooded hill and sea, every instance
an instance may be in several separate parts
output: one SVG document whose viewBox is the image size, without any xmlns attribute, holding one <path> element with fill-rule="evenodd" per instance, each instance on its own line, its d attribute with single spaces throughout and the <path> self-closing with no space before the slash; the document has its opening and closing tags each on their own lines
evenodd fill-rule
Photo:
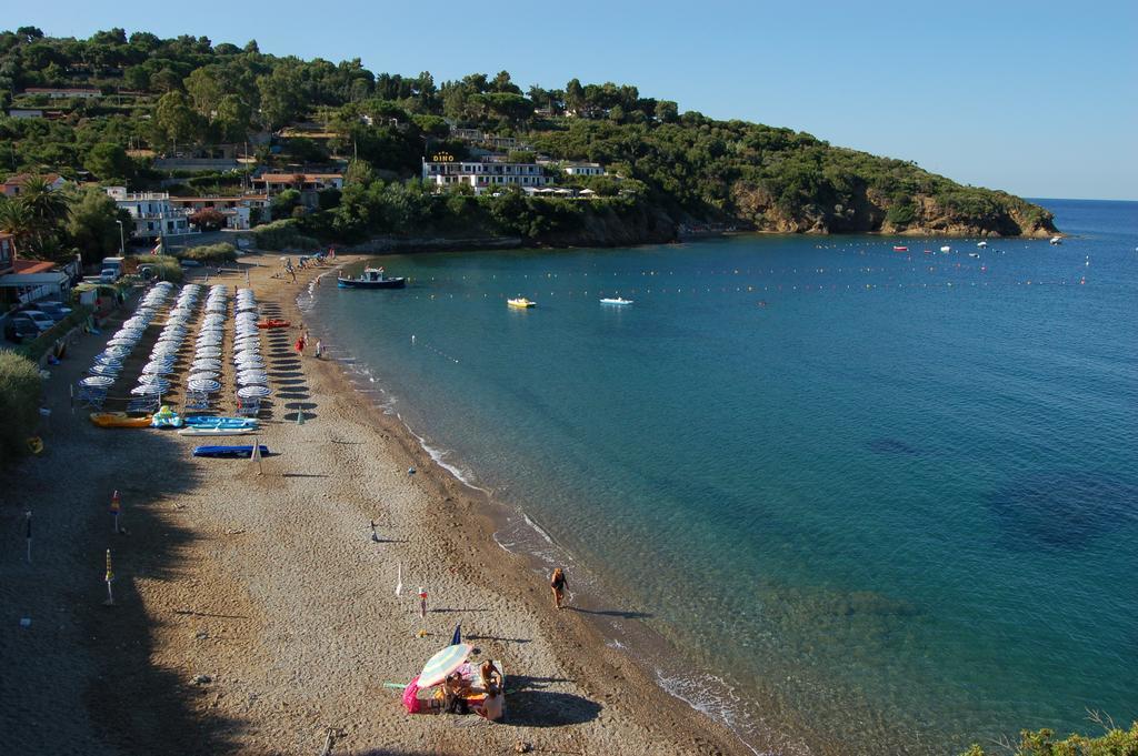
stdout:
<svg viewBox="0 0 1138 756">
<path fill-rule="evenodd" d="M 358 57 L 436 82 L 635 84 L 1028 197 L 1138 199 L 1138 2 L 20 3 L 3 25 L 122 26 Z"/>
</svg>

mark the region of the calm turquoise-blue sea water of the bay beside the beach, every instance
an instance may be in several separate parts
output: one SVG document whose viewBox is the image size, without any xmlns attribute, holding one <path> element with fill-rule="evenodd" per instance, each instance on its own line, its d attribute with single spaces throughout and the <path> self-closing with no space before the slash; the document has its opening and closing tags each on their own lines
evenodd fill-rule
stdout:
<svg viewBox="0 0 1138 756">
<path fill-rule="evenodd" d="M 951 753 L 1138 717 L 1138 203 L 1042 202 L 1061 246 L 391 256 L 311 317 L 752 745 Z"/>
</svg>

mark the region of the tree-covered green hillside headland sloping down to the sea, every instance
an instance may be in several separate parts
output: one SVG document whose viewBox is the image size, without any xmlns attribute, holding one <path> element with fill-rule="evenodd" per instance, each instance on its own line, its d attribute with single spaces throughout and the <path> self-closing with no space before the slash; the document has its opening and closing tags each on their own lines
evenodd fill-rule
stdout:
<svg viewBox="0 0 1138 756">
<path fill-rule="evenodd" d="M 38 88 L 92 88 L 94 98 Z M 0 33 L 0 169 L 59 173 L 101 184 L 217 193 L 257 169 L 339 164 L 343 191 L 319 207 L 282 206 L 305 235 L 358 242 L 376 235 L 518 235 L 546 243 L 629 243 L 674 238 L 679 225 L 775 232 L 1045 235 L 1052 215 L 1005 192 L 959 185 L 913 163 L 833 147 L 809 134 L 715 121 L 635 86 L 522 90 L 509 73 L 436 83 L 262 53 L 257 43 L 159 39 L 121 28 L 86 40 L 39 28 Z M 508 190 L 443 197 L 414 181 L 424 155 L 471 153 L 456 128 L 514 138 L 516 159 L 588 160 L 604 176 L 564 176 L 589 202 Z M 224 143 L 255 156 L 239 172 L 179 174 L 155 158 Z M 92 200 L 89 200 L 93 202 Z M 280 213 L 278 211 L 280 210 Z M 269 218 L 262 218 L 267 221 Z"/>
</svg>

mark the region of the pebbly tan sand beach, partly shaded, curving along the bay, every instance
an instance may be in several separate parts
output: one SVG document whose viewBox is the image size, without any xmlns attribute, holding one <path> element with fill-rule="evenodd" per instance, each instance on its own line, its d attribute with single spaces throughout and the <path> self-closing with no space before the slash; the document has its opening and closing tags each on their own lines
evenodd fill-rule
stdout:
<svg viewBox="0 0 1138 756">
<path fill-rule="evenodd" d="M 272 277 L 277 266 L 250 256 L 208 281 L 232 291 L 247 273 L 262 314 L 294 323 L 263 339 L 274 397 L 262 472 L 193 458 L 195 439 L 99 429 L 69 409 L 68 385 L 114 319 L 52 368 L 47 449 L 0 473 L 5 749 L 314 755 L 331 734 L 335 754 L 748 753 L 605 646 L 587 613 L 554 610 L 545 578 L 494 542 L 485 495 L 356 394 L 339 364 L 295 356 L 296 297 L 328 268 L 291 283 Z M 231 394 L 231 374 L 224 384 Z M 460 622 L 475 658 L 505 667 L 504 723 L 412 716 L 385 687 L 406 683 Z"/>
</svg>

